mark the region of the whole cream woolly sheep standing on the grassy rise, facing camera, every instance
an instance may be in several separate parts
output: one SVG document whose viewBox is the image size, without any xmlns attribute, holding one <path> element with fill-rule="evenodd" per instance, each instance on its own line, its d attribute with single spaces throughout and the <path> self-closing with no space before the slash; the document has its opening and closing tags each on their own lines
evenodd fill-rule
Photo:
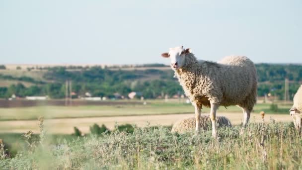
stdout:
<svg viewBox="0 0 302 170">
<path fill-rule="evenodd" d="M 191 49 L 170 48 L 162 57 L 170 57 L 185 94 L 195 107 L 196 133 L 199 131 L 202 106 L 211 107 L 212 135 L 217 136 L 216 110 L 219 106 L 238 105 L 244 114 L 243 128 L 257 98 L 257 73 L 254 63 L 244 56 L 228 56 L 218 63 L 199 62 Z"/>
</svg>

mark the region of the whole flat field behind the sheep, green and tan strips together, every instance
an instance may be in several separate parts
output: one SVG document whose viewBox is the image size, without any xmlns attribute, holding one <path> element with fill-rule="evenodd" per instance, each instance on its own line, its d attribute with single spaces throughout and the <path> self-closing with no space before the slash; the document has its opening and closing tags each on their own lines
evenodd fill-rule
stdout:
<svg viewBox="0 0 302 170">
<path fill-rule="evenodd" d="M 99 102 L 101 103 L 101 102 Z M 22 133 L 27 130 L 38 132 L 36 121 L 38 117 L 45 118 L 45 126 L 50 133 L 71 134 L 74 127 L 83 133 L 89 133 L 89 126 L 94 123 L 104 124 L 113 129 L 115 124 L 136 124 L 170 126 L 179 119 L 194 116 L 191 104 L 178 103 L 178 100 L 163 102 L 162 100 L 147 100 L 136 102 L 105 102 L 100 105 L 78 106 L 35 106 L 35 107 L 8 107 L 0 108 L 0 133 Z M 288 105 L 279 104 L 278 112 L 270 110 L 270 104 L 257 104 L 251 115 L 251 121 L 259 122 L 259 112 L 269 113 L 277 121 L 291 121 Z M 202 110 L 209 113 L 209 108 Z M 218 115 L 227 116 L 233 124 L 240 124 L 241 109 L 236 106 L 220 107 Z"/>
</svg>

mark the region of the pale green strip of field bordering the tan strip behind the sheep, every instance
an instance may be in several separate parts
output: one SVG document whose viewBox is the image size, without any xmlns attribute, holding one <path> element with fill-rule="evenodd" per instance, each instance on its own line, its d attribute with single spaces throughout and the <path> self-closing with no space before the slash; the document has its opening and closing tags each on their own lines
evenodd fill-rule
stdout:
<svg viewBox="0 0 302 170">
<path fill-rule="evenodd" d="M 278 105 L 277 113 L 288 114 L 291 105 Z M 202 109 L 202 112 L 209 112 L 209 108 Z M 256 104 L 254 112 L 266 111 L 266 113 L 276 113 L 270 110 L 270 104 Z M 220 107 L 219 112 L 241 112 L 237 106 L 227 108 Z M 2 120 L 35 120 L 39 116 L 46 119 L 52 118 L 78 118 L 78 117 L 103 117 L 103 116 L 130 116 L 130 115 L 158 115 L 158 114 L 179 114 L 194 113 L 191 104 L 177 102 L 147 101 L 147 105 L 98 105 L 98 106 L 36 106 L 19 108 L 0 108 L 0 121 Z"/>
</svg>

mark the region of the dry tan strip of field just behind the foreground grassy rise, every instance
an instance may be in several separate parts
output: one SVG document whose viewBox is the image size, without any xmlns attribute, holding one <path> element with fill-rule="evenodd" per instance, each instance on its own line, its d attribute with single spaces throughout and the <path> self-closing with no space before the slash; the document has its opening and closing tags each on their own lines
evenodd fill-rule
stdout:
<svg viewBox="0 0 302 170">
<path fill-rule="evenodd" d="M 226 116 L 232 124 L 240 124 L 242 113 L 218 113 L 220 116 Z M 290 115 L 284 114 L 266 114 L 266 122 L 270 121 L 270 116 L 277 122 L 292 121 Z M 194 114 L 169 114 L 169 115 L 146 115 L 146 116 L 113 116 L 113 117 L 89 117 L 89 118 L 67 118 L 67 119 L 48 119 L 45 120 L 45 127 L 48 133 L 56 134 L 71 134 L 74 132 L 74 127 L 77 127 L 83 133 L 89 133 L 89 126 L 94 123 L 99 125 L 105 124 L 109 129 L 114 129 L 115 123 L 118 124 L 136 124 L 139 127 L 144 127 L 147 122 L 151 126 L 155 125 L 172 125 L 179 119 L 194 117 Z M 250 122 L 261 122 L 259 113 L 252 113 Z M 38 133 L 37 120 L 14 120 L 0 121 L 0 133 L 24 133 L 32 130 Z"/>
</svg>

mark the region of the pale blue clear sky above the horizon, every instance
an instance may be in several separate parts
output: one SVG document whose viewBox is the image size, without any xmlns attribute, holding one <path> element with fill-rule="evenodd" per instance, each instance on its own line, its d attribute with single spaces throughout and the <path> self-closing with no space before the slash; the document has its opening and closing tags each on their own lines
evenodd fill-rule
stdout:
<svg viewBox="0 0 302 170">
<path fill-rule="evenodd" d="M 0 64 L 302 63 L 302 0 L 0 0 Z"/>
</svg>

